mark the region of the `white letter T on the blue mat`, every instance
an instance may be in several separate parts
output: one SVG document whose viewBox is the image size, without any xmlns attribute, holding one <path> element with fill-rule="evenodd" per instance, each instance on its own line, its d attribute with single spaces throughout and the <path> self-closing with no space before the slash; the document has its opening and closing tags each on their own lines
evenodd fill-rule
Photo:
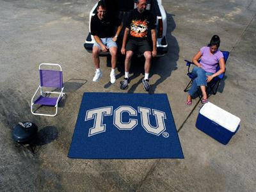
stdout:
<svg viewBox="0 0 256 192">
<path fill-rule="evenodd" d="M 106 131 L 106 124 L 102 124 L 103 115 L 109 116 L 112 115 L 113 107 L 105 107 L 105 108 L 97 108 L 91 109 L 86 112 L 85 121 L 92 120 L 94 118 L 93 127 L 90 128 L 88 136 L 93 136 L 94 134 L 98 134 L 100 132 Z"/>
</svg>

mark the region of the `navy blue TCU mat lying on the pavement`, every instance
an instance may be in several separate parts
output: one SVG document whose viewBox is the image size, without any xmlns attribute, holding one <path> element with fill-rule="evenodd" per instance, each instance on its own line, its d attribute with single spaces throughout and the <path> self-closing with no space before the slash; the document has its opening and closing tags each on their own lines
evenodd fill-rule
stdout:
<svg viewBox="0 0 256 192">
<path fill-rule="evenodd" d="M 68 157 L 184 158 L 167 95 L 84 93 Z"/>
</svg>

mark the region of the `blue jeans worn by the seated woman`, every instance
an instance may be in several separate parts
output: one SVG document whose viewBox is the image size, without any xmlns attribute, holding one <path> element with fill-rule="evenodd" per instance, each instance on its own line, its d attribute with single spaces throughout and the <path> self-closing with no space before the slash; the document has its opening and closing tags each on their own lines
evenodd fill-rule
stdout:
<svg viewBox="0 0 256 192">
<path fill-rule="evenodd" d="M 192 70 L 192 75 L 195 77 L 190 90 L 188 91 L 189 95 L 194 95 L 195 92 L 198 90 L 199 86 L 207 86 L 207 76 L 211 76 L 213 73 L 205 72 L 204 69 L 200 67 L 194 67 Z"/>
</svg>

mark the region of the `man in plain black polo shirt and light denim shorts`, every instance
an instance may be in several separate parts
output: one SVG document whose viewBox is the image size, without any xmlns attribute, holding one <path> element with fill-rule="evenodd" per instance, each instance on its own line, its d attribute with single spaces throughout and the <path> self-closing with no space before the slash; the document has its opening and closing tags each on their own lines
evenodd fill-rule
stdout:
<svg viewBox="0 0 256 192">
<path fill-rule="evenodd" d="M 116 27 L 118 28 L 115 33 L 114 29 Z M 92 56 L 96 68 L 93 81 L 99 81 L 100 77 L 102 77 L 99 59 L 100 51 L 109 51 L 111 54 L 110 82 L 115 83 L 115 67 L 117 60 L 116 39 L 118 38 L 121 29 L 122 22 L 117 18 L 114 19 L 111 14 L 106 13 L 106 4 L 103 1 L 99 1 L 97 5 L 97 13 L 92 17 L 91 20 L 91 34 L 95 39 L 92 49 Z"/>
</svg>

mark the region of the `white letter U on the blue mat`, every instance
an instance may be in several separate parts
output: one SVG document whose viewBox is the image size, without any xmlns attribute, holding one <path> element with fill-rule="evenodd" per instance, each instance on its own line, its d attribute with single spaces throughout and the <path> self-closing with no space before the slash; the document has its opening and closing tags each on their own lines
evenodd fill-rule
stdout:
<svg viewBox="0 0 256 192">
<path fill-rule="evenodd" d="M 166 115 L 163 111 L 157 111 L 156 109 L 152 109 L 153 115 L 156 118 L 156 127 L 150 125 L 149 115 L 151 115 L 151 113 L 149 108 L 138 107 L 138 111 L 140 112 L 141 116 L 141 125 L 147 132 L 159 136 L 162 132 L 166 130 L 164 124 L 164 119 L 166 119 Z"/>
</svg>

